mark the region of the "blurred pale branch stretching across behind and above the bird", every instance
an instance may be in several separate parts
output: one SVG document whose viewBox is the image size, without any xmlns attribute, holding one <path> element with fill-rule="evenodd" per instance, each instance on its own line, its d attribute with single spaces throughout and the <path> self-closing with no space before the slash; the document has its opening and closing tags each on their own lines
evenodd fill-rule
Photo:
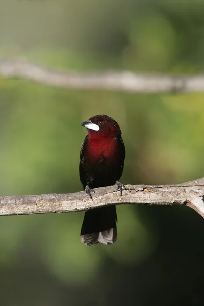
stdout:
<svg viewBox="0 0 204 306">
<path fill-rule="evenodd" d="M 0 75 L 40 84 L 78 90 L 110 90 L 138 93 L 202 92 L 204 75 L 171 76 L 136 74 L 131 71 L 62 72 L 27 60 L 0 59 Z"/>
</svg>

